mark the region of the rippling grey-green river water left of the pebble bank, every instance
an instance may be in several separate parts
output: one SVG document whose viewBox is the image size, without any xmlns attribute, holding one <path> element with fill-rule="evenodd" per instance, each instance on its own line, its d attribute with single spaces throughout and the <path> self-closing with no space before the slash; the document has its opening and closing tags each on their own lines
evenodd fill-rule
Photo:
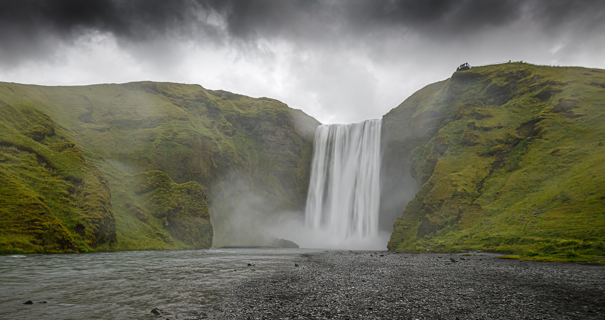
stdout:
<svg viewBox="0 0 605 320">
<path fill-rule="evenodd" d="M 246 279 L 288 270 L 306 249 L 0 256 L 1 319 L 205 318 Z M 247 263 L 256 266 L 247 266 Z M 23 304 L 31 300 L 32 305 Z M 47 301 L 48 303 L 38 303 Z"/>
</svg>

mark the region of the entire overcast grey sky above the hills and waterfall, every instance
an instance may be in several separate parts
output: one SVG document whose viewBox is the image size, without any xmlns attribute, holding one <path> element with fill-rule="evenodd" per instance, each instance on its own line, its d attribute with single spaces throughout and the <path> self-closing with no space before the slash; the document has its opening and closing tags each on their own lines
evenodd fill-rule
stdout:
<svg viewBox="0 0 605 320">
<path fill-rule="evenodd" d="M 198 83 L 322 123 L 471 65 L 605 68 L 605 1 L 0 0 L 0 81 Z"/>
</svg>

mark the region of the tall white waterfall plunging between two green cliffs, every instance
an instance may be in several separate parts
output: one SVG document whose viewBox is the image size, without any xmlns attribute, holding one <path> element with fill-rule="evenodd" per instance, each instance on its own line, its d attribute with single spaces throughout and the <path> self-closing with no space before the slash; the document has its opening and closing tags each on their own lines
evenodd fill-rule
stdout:
<svg viewBox="0 0 605 320">
<path fill-rule="evenodd" d="M 378 232 L 381 119 L 315 131 L 306 224 L 334 237 Z"/>
</svg>

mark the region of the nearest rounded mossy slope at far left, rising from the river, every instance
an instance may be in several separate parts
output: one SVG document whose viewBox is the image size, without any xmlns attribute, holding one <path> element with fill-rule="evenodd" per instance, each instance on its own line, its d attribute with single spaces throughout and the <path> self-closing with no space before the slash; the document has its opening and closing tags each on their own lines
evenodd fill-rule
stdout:
<svg viewBox="0 0 605 320">
<path fill-rule="evenodd" d="M 116 242 L 108 181 L 38 108 L 0 101 L 0 252 Z"/>
</svg>

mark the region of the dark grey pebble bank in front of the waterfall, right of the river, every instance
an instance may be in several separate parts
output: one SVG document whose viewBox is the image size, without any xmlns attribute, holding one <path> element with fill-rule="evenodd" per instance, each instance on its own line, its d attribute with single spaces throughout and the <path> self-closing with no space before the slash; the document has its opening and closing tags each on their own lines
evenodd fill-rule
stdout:
<svg viewBox="0 0 605 320">
<path fill-rule="evenodd" d="M 453 262 L 455 261 L 455 262 Z M 211 319 L 605 319 L 605 267 L 329 251 L 244 282 Z"/>
</svg>

